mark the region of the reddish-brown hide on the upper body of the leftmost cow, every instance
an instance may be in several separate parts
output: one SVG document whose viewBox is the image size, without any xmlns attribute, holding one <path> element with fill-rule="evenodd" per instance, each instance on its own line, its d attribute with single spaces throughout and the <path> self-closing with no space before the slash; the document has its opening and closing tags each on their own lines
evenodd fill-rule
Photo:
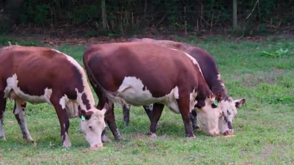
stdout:
<svg viewBox="0 0 294 165">
<path fill-rule="evenodd" d="M 11 87 L 17 85 L 30 96 L 44 95 L 46 88 L 52 89 L 54 86 L 59 86 L 60 93 L 74 92 L 70 88 L 83 90 L 77 67 L 66 55 L 56 50 L 11 46 L 0 52 L 0 64 L 2 83 L 17 82 L 10 84 Z M 69 96 L 75 95 L 73 92 Z"/>
</svg>

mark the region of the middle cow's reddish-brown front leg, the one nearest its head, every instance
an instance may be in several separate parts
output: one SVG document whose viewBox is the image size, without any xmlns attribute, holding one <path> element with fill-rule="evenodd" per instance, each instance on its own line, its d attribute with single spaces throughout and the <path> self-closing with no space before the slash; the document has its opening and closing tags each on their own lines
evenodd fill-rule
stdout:
<svg viewBox="0 0 294 165">
<path fill-rule="evenodd" d="M 177 105 L 184 122 L 186 137 L 196 138 L 193 134 L 190 124 L 190 96 L 180 97 L 179 99 L 177 99 Z"/>
</svg>

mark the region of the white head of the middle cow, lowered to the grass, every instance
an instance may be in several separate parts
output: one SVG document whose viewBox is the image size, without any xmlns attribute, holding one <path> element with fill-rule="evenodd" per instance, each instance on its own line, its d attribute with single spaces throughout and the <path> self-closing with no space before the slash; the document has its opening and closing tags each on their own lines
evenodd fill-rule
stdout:
<svg viewBox="0 0 294 165">
<path fill-rule="evenodd" d="M 217 136 L 220 133 L 219 119 L 221 113 L 221 93 L 216 96 L 207 97 L 205 101 L 198 101 L 196 104 L 197 118 L 199 118 L 203 130 L 211 135 Z"/>
</svg>

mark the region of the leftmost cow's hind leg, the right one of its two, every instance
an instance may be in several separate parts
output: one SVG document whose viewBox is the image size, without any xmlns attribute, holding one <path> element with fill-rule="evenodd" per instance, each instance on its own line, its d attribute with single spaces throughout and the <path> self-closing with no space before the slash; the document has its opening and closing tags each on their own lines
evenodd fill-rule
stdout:
<svg viewBox="0 0 294 165">
<path fill-rule="evenodd" d="M 34 140 L 31 138 L 29 134 L 29 130 L 27 128 L 26 118 L 25 118 L 25 110 L 26 110 L 26 101 L 21 98 L 15 98 L 15 107 L 13 113 L 17 120 L 17 123 L 20 126 L 20 130 L 22 132 L 23 138 L 28 140 L 29 142 L 33 142 Z"/>
</svg>

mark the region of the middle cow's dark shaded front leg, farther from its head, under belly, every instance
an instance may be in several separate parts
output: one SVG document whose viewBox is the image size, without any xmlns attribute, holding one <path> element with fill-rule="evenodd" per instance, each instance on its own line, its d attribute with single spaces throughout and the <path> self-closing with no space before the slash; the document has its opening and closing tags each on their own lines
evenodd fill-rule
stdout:
<svg viewBox="0 0 294 165">
<path fill-rule="evenodd" d="M 151 121 L 150 129 L 149 129 L 149 134 L 150 134 L 151 138 L 156 137 L 156 134 L 155 134 L 156 125 L 162 115 L 163 107 L 164 107 L 164 105 L 160 104 L 160 103 L 153 104 L 152 117 L 151 117 L 152 121 Z"/>
</svg>

